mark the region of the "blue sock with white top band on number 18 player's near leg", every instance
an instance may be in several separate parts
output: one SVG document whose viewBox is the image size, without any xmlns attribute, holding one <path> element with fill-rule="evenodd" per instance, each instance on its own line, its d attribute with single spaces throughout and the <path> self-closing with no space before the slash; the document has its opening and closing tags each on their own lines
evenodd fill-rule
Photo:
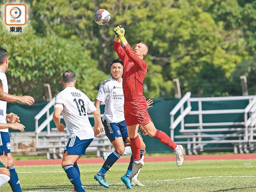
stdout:
<svg viewBox="0 0 256 192">
<path fill-rule="evenodd" d="M 85 192 L 84 187 L 82 187 L 82 182 L 80 180 L 80 176 L 77 173 L 77 170 L 74 168 L 74 166 L 66 165 L 63 167 L 63 169 L 66 172 L 70 182 L 77 189 L 77 192 Z"/>
</svg>

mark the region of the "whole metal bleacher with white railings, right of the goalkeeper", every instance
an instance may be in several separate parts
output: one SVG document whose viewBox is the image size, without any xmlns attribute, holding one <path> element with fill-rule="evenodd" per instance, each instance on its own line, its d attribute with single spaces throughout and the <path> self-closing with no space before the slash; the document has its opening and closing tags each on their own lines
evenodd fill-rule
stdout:
<svg viewBox="0 0 256 192">
<path fill-rule="evenodd" d="M 234 153 L 250 153 L 254 150 L 254 145 L 256 145 L 256 95 L 196 98 L 190 96 L 191 93 L 187 92 L 170 112 L 171 137 L 177 144 L 185 146 L 187 154 L 198 154 L 204 150 L 230 150 L 230 148 Z M 214 110 L 204 110 L 203 106 L 207 102 L 240 102 L 242 100 L 247 102 L 244 108 L 228 109 L 221 105 L 220 109 L 215 107 Z M 230 118 L 232 121 L 225 119 L 225 122 L 221 121 L 221 118 L 214 122 L 205 120 L 206 116 L 217 115 L 230 117 L 239 115 L 243 120 L 241 118 L 237 120 Z M 177 130 L 175 132 L 175 129 L 179 129 L 179 134 Z M 216 147 L 216 145 L 219 146 Z"/>
</svg>

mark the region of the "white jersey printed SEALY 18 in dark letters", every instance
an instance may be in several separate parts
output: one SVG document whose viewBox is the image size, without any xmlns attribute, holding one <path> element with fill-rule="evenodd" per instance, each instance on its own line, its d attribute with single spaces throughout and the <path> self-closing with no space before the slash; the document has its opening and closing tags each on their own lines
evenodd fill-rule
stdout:
<svg viewBox="0 0 256 192">
<path fill-rule="evenodd" d="M 70 137 L 76 135 L 79 139 L 94 138 L 94 131 L 90 124 L 88 113 L 97 110 L 84 92 L 75 87 L 66 87 L 55 97 L 56 104 L 62 104 L 61 112 Z"/>
</svg>

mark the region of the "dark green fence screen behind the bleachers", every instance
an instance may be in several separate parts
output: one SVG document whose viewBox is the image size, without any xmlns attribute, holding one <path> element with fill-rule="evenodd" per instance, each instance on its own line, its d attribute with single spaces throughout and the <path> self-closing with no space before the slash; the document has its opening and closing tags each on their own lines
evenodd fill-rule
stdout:
<svg viewBox="0 0 256 192">
<path fill-rule="evenodd" d="M 166 134 L 170 135 L 170 111 L 174 106 L 179 102 L 178 99 L 155 99 L 153 103 L 153 108 L 149 109 L 149 114 L 154 121 L 154 124 L 157 129 L 166 132 Z M 26 126 L 26 132 L 34 132 L 35 130 L 35 121 L 34 116 L 42 110 L 42 108 L 48 102 L 43 103 L 35 103 L 32 106 L 11 103 L 8 104 L 7 113 L 13 112 L 18 114 L 21 119 L 21 123 Z M 197 110 L 197 103 L 191 103 L 193 110 Z M 210 109 L 239 109 L 245 108 L 248 105 L 248 101 L 221 101 L 221 102 L 207 102 L 203 103 L 203 110 Z M 103 111 L 103 105 L 102 111 Z M 50 109 L 53 111 L 53 107 Z M 177 114 L 178 116 L 179 114 Z M 43 116 L 39 125 L 42 121 L 44 121 L 46 116 Z M 93 125 L 93 119 L 90 119 Z M 243 121 L 243 116 L 241 114 L 222 114 L 222 115 L 204 115 L 204 122 L 227 122 L 227 121 Z M 185 118 L 186 123 L 198 123 L 198 118 L 195 116 L 187 116 Z M 53 121 L 51 122 L 51 127 L 55 127 Z M 179 126 L 175 129 L 174 134 L 179 135 Z M 45 128 L 46 130 L 46 128 Z M 13 132 L 13 130 L 10 130 Z M 144 142 L 146 144 L 146 150 L 148 153 L 156 153 L 156 152 L 170 152 L 170 148 L 161 144 L 158 139 L 151 138 L 149 136 L 143 137 Z M 218 146 L 218 145 L 216 145 Z"/>
</svg>

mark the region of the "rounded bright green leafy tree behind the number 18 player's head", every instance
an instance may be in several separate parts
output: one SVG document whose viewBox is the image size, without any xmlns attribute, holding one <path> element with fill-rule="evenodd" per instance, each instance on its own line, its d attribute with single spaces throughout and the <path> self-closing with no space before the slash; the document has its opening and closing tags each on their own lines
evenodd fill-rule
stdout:
<svg viewBox="0 0 256 192">
<path fill-rule="evenodd" d="M 50 83 L 53 95 L 62 89 L 61 75 L 73 70 L 77 75 L 77 87 L 94 100 L 97 89 L 107 76 L 98 70 L 83 47 L 74 41 L 50 36 L 38 37 L 31 27 L 26 33 L 13 36 L 0 27 L 1 47 L 8 50 L 9 70 L 6 71 L 10 92 L 16 95 L 32 95 L 37 101 L 44 95 L 43 86 Z"/>
</svg>

